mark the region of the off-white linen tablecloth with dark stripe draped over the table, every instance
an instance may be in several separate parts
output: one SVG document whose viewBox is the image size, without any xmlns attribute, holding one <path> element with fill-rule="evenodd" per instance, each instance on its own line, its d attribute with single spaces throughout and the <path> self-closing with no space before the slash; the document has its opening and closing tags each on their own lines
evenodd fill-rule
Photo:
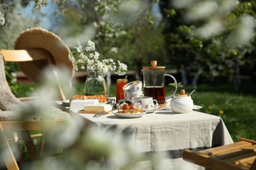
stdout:
<svg viewBox="0 0 256 170">
<path fill-rule="evenodd" d="M 160 110 L 144 114 L 141 118 L 119 118 L 106 114 L 98 118 L 94 114 L 79 114 L 85 120 L 98 124 L 99 130 L 114 130 L 116 134 L 131 135 L 143 154 L 165 153 L 163 169 L 202 169 L 182 160 L 183 150 L 202 150 L 233 143 L 223 120 L 219 116 L 192 111 L 175 114 Z M 154 169 L 150 161 L 142 161 L 142 169 Z"/>
</svg>

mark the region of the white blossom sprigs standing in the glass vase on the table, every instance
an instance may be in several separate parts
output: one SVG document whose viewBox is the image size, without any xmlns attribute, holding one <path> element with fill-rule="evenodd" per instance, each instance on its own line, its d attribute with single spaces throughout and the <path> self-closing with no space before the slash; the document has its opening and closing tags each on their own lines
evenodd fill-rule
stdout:
<svg viewBox="0 0 256 170">
<path fill-rule="evenodd" d="M 117 60 L 117 63 L 113 59 L 100 60 L 98 58 L 100 54 L 95 51 L 95 43 L 90 39 L 87 41 L 86 46 L 81 46 L 80 42 L 78 42 L 75 50 L 74 54 L 70 54 L 69 59 L 75 65 L 76 70 L 88 69 L 102 76 L 106 76 L 108 71 L 113 71 L 117 75 L 124 75 L 127 71 L 127 65 L 119 60 Z"/>
</svg>

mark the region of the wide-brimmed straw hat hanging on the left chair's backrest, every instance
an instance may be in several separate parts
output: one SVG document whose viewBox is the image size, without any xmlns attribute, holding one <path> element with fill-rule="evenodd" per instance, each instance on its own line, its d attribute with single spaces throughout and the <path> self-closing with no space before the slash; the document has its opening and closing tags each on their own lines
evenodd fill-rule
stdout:
<svg viewBox="0 0 256 170">
<path fill-rule="evenodd" d="M 15 50 L 29 50 L 33 48 L 47 50 L 49 55 L 45 55 L 45 58 L 48 61 L 51 61 L 54 65 L 70 69 L 72 77 L 74 76 L 74 65 L 68 59 L 70 48 L 53 32 L 41 28 L 27 29 L 18 36 L 14 43 Z M 39 75 L 42 69 L 49 65 L 47 60 L 19 62 L 18 66 L 30 80 L 39 83 Z"/>
</svg>

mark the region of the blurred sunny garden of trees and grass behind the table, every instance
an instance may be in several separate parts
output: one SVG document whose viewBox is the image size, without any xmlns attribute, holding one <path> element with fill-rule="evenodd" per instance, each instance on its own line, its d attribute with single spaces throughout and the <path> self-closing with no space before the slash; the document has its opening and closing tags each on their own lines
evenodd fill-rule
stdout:
<svg viewBox="0 0 256 170">
<path fill-rule="evenodd" d="M 2 0 L 0 48 L 12 49 L 22 31 L 43 27 L 62 37 L 71 50 L 77 39 L 81 44 L 92 39 L 100 58 L 127 64 L 130 82 L 142 80 L 142 67 L 158 60 L 177 78 L 179 90 L 196 89 L 194 103 L 202 112 L 221 116 L 234 141 L 256 140 L 255 11 L 253 0 Z M 20 82 L 22 76 L 13 74 L 19 73 L 16 65 L 5 67 L 17 97 L 39 88 Z M 76 73 L 76 93 L 83 93 L 86 75 L 83 70 Z M 119 77 L 106 77 L 111 80 L 109 96 L 115 95 Z M 171 82 L 166 83 L 171 93 Z"/>
</svg>

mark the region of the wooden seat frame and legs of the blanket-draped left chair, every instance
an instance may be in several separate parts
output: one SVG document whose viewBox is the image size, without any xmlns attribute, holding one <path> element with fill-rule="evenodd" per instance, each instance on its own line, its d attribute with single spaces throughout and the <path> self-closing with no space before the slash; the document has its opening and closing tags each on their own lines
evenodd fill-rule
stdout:
<svg viewBox="0 0 256 170">
<path fill-rule="evenodd" d="M 1 158 L 4 160 L 7 169 L 20 169 L 24 163 L 24 160 L 21 156 L 17 156 L 16 152 L 20 152 L 18 148 L 18 142 L 23 140 L 26 144 L 26 148 L 30 154 L 30 157 L 33 160 L 37 160 L 42 156 L 43 148 L 37 150 L 35 144 L 33 144 L 33 139 L 28 133 L 28 131 L 34 130 L 52 130 L 55 127 L 58 127 L 60 124 L 63 124 L 64 121 L 11 121 L 11 122 L 0 122 L 0 141 L 2 154 Z M 19 132 L 20 137 L 10 138 L 10 134 L 15 134 Z M 13 143 L 17 143 L 13 145 Z M 13 148 L 15 146 L 15 148 Z M 15 150 L 15 151 L 14 151 Z M 18 151 L 17 151 L 18 150 Z M 3 154 L 4 153 L 4 154 Z M 20 154 L 20 153 L 18 153 Z M 17 157 L 19 158 L 17 161 Z"/>
</svg>

